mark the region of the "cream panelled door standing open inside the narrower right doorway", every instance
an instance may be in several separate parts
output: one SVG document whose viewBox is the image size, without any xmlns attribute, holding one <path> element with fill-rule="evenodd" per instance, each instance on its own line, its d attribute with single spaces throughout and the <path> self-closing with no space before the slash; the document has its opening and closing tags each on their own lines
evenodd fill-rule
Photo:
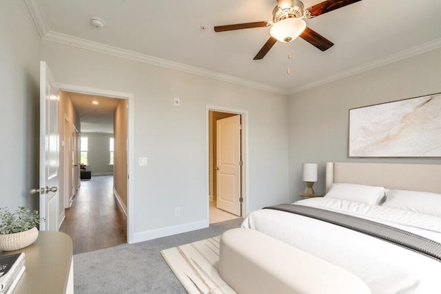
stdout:
<svg viewBox="0 0 441 294">
<path fill-rule="evenodd" d="M 240 216 L 240 115 L 216 120 L 216 207 Z"/>
</svg>

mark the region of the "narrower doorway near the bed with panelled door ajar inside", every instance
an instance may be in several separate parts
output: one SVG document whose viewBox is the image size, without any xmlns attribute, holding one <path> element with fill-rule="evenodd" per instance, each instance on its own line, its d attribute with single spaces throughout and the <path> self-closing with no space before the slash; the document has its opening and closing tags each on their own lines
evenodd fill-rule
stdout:
<svg viewBox="0 0 441 294">
<path fill-rule="evenodd" d="M 207 109 L 209 224 L 245 215 L 245 113 Z"/>
</svg>

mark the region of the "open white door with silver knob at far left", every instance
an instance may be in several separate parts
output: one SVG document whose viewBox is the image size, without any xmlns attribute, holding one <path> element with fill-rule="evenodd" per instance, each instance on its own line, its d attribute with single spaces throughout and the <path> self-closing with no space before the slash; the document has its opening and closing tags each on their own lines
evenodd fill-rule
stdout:
<svg viewBox="0 0 441 294">
<path fill-rule="evenodd" d="M 59 90 L 40 62 L 40 230 L 58 231 Z"/>
</svg>

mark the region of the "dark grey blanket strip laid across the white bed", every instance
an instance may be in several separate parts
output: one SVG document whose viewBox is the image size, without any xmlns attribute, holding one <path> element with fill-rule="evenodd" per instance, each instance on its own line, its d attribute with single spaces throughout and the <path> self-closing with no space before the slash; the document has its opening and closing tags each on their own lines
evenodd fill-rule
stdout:
<svg viewBox="0 0 441 294">
<path fill-rule="evenodd" d="M 387 224 L 381 224 L 379 222 L 373 222 L 372 220 L 365 220 L 364 218 L 357 218 L 356 216 L 349 216 L 335 211 L 297 204 L 279 204 L 273 207 L 265 207 L 264 209 L 287 211 L 300 216 L 307 216 L 309 218 L 315 218 L 316 220 L 336 224 L 340 227 L 380 238 L 441 262 L 440 243 L 416 235 L 415 233 L 388 226 Z"/>
</svg>

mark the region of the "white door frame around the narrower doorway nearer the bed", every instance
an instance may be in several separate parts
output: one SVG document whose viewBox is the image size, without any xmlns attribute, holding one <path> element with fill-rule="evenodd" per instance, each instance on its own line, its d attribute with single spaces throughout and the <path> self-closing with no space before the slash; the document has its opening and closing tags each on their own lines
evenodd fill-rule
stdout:
<svg viewBox="0 0 441 294">
<path fill-rule="evenodd" d="M 227 112 L 230 114 L 239 114 L 242 118 L 242 134 L 240 138 L 241 148 L 241 157 L 243 160 L 242 165 L 242 187 L 240 187 L 241 197 L 243 197 L 242 202 L 242 211 L 240 211 L 241 215 L 244 217 L 247 215 L 249 209 L 249 185 L 248 185 L 248 111 L 243 109 L 235 109 L 229 107 L 222 107 L 216 105 L 207 105 L 205 111 L 205 207 L 207 209 L 206 213 L 206 222 L 207 227 L 209 226 L 209 112 Z"/>
</svg>

